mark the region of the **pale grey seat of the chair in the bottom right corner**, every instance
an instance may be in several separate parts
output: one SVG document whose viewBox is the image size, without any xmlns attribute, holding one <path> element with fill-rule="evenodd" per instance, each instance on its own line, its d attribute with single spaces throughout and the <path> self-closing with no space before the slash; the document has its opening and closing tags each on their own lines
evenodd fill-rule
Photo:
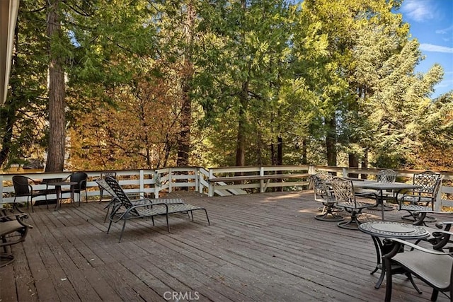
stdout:
<svg viewBox="0 0 453 302">
<path fill-rule="evenodd" d="M 392 260 L 409 269 L 420 279 L 425 279 L 428 284 L 433 284 L 439 289 L 449 287 L 453 265 L 453 257 L 449 255 L 433 255 L 414 250 L 398 253 Z"/>
</svg>

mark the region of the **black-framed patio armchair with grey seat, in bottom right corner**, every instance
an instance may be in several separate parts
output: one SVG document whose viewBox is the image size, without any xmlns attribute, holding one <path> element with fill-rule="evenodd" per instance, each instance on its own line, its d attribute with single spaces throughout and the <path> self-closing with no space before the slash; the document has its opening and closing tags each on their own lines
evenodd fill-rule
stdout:
<svg viewBox="0 0 453 302">
<path fill-rule="evenodd" d="M 453 233 L 440 231 L 448 238 Z M 453 301 L 453 253 L 439 250 L 428 250 L 405 240 L 391 238 L 386 240 L 391 251 L 383 256 L 386 267 L 385 301 L 391 301 L 392 275 L 398 273 L 412 274 L 432 287 L 431 301 L 436 301 L 439 292 L 449 292 L 450 301 Z M 392 248 L 393 245 L 393 248 Z M 404 245 L 412 251 L 401 252 Z M 395 269 L 400 267 L 400 269 Z"/>
</svg>

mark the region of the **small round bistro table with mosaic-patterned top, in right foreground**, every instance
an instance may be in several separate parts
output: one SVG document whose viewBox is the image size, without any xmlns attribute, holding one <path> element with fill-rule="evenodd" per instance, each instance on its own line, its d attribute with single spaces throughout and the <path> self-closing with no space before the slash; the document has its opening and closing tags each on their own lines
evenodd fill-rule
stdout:
<svg viewBox="0 0 453 302">
<path fill-rule="evenodd" d="M 385 276 L 385 267 L 382 264 L 382 256 L 389 252 L 393 245 L 385 244 L 382 242 L 380 238 L 399 238 L 403 240 L 417 240 L 428 238 L 430 233 L 423 228 L 422 226 L 414 226 L 413 224 L 409 223 L 400 223 L 400 222 L 393 222 L 393 221 L 374 221 L 374 222 L 365 222 L 361 223 L 359 226 L 359 230 L 371 235 L 373 239 L 374 247 L 376 248 L 376 255 L 377 255 L 377 265 L 376 268 L 370 273 L 374 274 L 377 272 L 378 269 L 381 269 L 381 276 L 377 280 L 376 285 L 374 286 L 375 289 L 379 289 L 384 280 Z M 408 276 L 411 280 L 413 287 L 420 292 L 420 289 L 415 285 L 411 276 Z"/>
</svg>

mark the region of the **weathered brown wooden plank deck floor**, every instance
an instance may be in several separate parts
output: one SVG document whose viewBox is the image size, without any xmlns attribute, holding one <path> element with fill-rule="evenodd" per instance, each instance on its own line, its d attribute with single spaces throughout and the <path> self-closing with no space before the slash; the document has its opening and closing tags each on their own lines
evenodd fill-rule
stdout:
<svg viewBox="0 0 453 302">
<path fill-rule="evenodd" d="M 385 281 L 374 289 L 379 274 L 369 274 L 371 237 L 315 220 L 312 196 L 186 193 L 186 202 L 207 208 L 210 226 L 200 211 L 195 222 L 171 216 L 171 233 L 164 217 L 154 227 L 135 220 L 122 243 L 119 223 L 105 233 L 105 203 L 36 207 L 15 262 L 0 269 L 0 301 L 383 301 Z M 397 276 L 393 301 L 429 301 L 430 289 L 416 282 L 422 295 Z"/>
</svg>

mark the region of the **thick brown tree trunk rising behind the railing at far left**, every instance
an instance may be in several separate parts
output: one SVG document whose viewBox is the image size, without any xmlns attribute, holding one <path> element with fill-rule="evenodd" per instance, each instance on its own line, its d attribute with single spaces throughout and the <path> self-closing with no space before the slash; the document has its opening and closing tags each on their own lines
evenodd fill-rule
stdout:
<svg viewBox="0 0 453 302">
<path fill-rule="evenodd" d="M 47 35 L 52 40 L 62 36 L 59 20 L 60 0 L 48 1 Z M 66 117 L 64 115 L 64 70 L 62 58 L 49 46 L 49 149 L 45 172 L 61 172 L 64 168 L 64 145 L 66 142 Z"/>
</svg>

